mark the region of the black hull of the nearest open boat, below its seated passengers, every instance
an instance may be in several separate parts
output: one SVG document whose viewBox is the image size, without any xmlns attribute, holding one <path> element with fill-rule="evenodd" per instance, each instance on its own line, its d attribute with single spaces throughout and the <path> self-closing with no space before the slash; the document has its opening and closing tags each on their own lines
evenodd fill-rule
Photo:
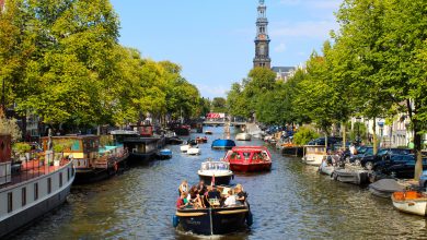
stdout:
<svg viewBox="0 0 427 240">
<path fill-rule="evenodd" d="M 220 192 L 227 187 L 218 187 Z M 236 201 L 233 206 L 220 206 L 219 202 L 211 201 L 206 208 L 178 208 L 173 217 L 173 225 L 178 230 L 196 235 L 227 235 L 246 230 L 252 225 L 252 214 L 247 201 Z"/>
</svg>

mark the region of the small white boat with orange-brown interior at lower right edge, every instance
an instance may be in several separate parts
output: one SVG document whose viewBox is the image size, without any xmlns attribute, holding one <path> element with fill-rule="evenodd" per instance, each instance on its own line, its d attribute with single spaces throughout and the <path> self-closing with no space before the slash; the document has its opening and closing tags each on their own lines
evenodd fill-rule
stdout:
<svg viewBox="0 0 427 240">
<path fill-rule="evenodd" d="M 426 216 L 427 195 L 416 191 L 394 192 L 392 194 L 393 206 L 399 211 Z"/>
</svg>

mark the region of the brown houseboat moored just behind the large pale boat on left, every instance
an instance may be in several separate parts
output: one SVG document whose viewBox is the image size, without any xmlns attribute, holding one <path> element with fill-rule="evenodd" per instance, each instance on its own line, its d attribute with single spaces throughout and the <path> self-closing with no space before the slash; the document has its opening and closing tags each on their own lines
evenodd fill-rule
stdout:
<svg viewBox="0 0 427 240">
<path fill-rule="evenodd" d="M 100 146 L 97 135 L 51 136 L 53 145 L 64 145 L 64 157 L 73 159 L 76 183 L 100 181 L 114 176 L 125 165 L 128 154 L 123 146 Z M 45 152 L 49 151 L 49 137 L 42 137 Z"/>
</svg>

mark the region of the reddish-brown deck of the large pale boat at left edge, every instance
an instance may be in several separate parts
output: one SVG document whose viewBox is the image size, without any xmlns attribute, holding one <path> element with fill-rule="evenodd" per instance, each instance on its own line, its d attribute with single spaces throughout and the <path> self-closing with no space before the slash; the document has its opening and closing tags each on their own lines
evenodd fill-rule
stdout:
<svg viewBox="0 0 427 240">
<path fill-rule="evenodd" d="M 44 175 L 48 175 L 62 168 L 67 164 L 67 160 L 61 160 L 59 166 L 47 166 L 44 165 L 44 163 L 42 163 L 41 166 L 39 160 L 28 160 L 26 163 L 22 163 L 21 165 L 12 165 L 11 182 L 1 184 L 0 189 L 5 189 L 10 185 L 19 184 Z"/>
</svg>

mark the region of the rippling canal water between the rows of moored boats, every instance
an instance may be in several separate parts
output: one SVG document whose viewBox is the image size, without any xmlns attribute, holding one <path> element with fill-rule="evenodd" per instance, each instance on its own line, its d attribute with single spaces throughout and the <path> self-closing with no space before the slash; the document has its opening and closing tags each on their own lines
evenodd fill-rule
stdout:
<svg viewBox="0 0 427 240">
<path fill-rule="evenodd" d="M 73 187 L 68 202 L 55 213 L 22 231 L 18 239 L 198 239 L 172 227 L 177 187 L 183 179 L 194 184 L 197 170 L 208 157 L 214 131 L 200 156 L 186 156 L 170 146 L 173 158 L 131 168 L 95 184 Z M 196 136 L 193 134 L 192 136 Z M 262 145 L 259 140 L 239 145 Z M 366 188 L 332 181 L 275 149 L 273 169 L 239 175 L 249 193 L 254 224 L 246 232 L 218 239 L 427 239 L 426 219 L 393 209 L 391 200 L 372 196 Z M 206 238 L 206 237 L 204 237 Z"/>
</svg>

